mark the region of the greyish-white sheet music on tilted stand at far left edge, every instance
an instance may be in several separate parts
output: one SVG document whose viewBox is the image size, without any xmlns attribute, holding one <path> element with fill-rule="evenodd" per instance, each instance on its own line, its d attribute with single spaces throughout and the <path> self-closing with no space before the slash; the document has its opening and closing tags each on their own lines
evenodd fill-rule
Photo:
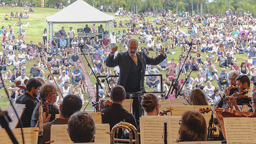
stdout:
<svg viewBox="0 0 256 144">
<path fill-rule="evenodd" d="M 21 115 L 22 115 L 26 105 L 25 104 L 17 104 L 17 103 L 12 103 L 12 104 L 13 104 L 19 118 L 21 118 Z M 12 120 L 12 122 L 9 122 L 9 127 L 10 127 L 10 129 L 14 129 L 19 121 L 17 118 L 17 115 L 15 114 L 15 112 L 10 104 L 7 107 L 6 111 Z M 0 126 L 0 128 L 2 128 L 2 127 Z"/>
</svg>

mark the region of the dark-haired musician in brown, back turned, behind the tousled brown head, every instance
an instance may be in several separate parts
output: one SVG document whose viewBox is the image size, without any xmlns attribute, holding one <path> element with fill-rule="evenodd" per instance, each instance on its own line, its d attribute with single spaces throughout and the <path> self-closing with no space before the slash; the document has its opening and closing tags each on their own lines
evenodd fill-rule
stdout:
<svg viewBox="0 0 256 144">
<path fill-rule="evenodd" d="M 68 124 L 70 116 L 80 111 L 82 108 L 82 100 L 79 96 L 75 94 L 68 94 L 63 98 L 63 102 L 60 107 L 60 116 L 52 122 L 47 122 L 43 124 L 43 139 L 41 139 L 41 144 L 50 141 L 51 136 L 51 125 L 65 125 Z"/>
</svg>

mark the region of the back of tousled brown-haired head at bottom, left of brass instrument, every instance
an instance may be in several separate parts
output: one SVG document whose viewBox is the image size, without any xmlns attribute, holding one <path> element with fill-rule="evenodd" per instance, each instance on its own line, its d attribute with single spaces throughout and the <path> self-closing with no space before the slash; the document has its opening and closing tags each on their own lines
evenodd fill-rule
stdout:
<svg viewBox="0 0 256 144">
<path fill-rule="evenodd" d="M 67 131 L 75 143 L 92 142 L 96 130 L 92 115 L 85 111 L 74 113 L 68 121 Z"/>
</svg>

